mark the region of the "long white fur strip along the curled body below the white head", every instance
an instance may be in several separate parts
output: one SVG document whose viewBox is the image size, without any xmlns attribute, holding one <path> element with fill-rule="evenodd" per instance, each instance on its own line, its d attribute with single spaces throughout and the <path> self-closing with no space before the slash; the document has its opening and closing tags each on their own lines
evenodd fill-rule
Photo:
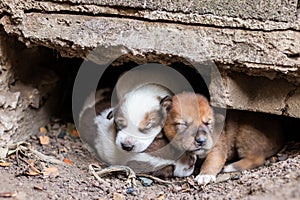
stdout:
<svg viewBox="0 0 300 200">
<path fill-rule="evenodd" d="M 166 165 L 175 165 L 175 176 L 189 176 L 192 173 L 190 171 L 184 171 L 188 168 L 188 165 L 181 164 L 179 162 L 169 159 L 163 159 L 160 157 L 152 156 L 148 153 L 134 153 L 126 152 L 118 148 L 115 144 L 115 129 L 113 119 L 107 119 L 107 114 L 113 110 L 113 108 L 104 110 L 98 115 L 94 122 L 97 125 L 97 138 L 96 141 L 96 154 L 97 157 L 108 165 L 128 165 L 136 173 L 148 173 L 156 169 L 161 169 Z M 136 167 L 130 165 L 132 161 L 140 163 L 148 163 L 147 168 Z"/>
</svg>

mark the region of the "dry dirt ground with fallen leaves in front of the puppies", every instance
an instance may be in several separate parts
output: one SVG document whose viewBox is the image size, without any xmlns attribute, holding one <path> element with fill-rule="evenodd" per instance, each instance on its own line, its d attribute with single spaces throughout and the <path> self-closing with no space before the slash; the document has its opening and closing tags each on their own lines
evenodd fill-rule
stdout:
<svg viewBox="0 0 300 200">
<path fill-rule="evenodd" d="M 131 188 L 121 173 L 97 180 L 89 165 L 98 162 L 72 129 L 55 121 L 31 136 L 26 141 L 30 146 L 11 147 L 18 151 L 0 162 L 0 199 L 300 199 L 299 142 L 288 143 L 262 167 L 221 174 L 218 183 L 205 187 L 187 177 L 170 179 L 172 183 L 154 181 L 150 186 L 137 179 L 137 186 Z M 55 164 L 57 160 L 63 162 Z"/>
</svg>

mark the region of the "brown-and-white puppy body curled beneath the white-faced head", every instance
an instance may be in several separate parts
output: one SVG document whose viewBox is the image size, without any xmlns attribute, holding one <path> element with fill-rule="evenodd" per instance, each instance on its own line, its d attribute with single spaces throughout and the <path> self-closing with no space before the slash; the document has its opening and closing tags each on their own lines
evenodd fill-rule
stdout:
<svg viewBox="0 0 300 200">
<path fill-rule="evenodd" d="M 142 146 L 143 148 L 139 148 L 139 153 L 133 151 L 136 146 L 132 148 L 132 151 L 128 151 L 123 149 L 124 147 L 122 147 L 121 143 L 116 143 L 120 130 L 115 123 L 116 119 L 114 116 L 119 116 L 117 112 L 120 112 L 119 109 L 122 106 L 118 105 L 118 107 L 110 108 L 110 98 L 107 94 L 111 94 L 111 92 L 100 90 L 96 93 L 94 100 L 93 98 L 88 98 L 80 114 L 79 121 L 80 136 L 98 159 L 108 165 L 127 165 L 137 173 L 151 173 L 162 177 L 183 177 L 192 174 L 196 161 L 195 155 L 190 153 L 183 154 L 171 145 L 167 145 L 168 141 L 160 132 L 152 133 L 155 135 L 150 135 L 154 137 L 151 139 L 152 142 L 148 145 L 147 141 L 146 147 Z M 168 101 L 168 99 L 164 99 L 161 104 L 164 104 L 165 101 Z M 157 108 L 157 106 L 153 108 Z M 164 112 L 160 110 L 161 117 L 166 115 Z M 151 123 L 153 122 L 151 121 Z M 152 126 L 156 127 L 157 124 L 153 123 Z M 142 142 L 139 142 L 139 139 L 137 137 L 130 138 L 130 142 L 132 142 L 130 144 L 143 144 L 145 139 L 142 137 Z"/>
</svg>

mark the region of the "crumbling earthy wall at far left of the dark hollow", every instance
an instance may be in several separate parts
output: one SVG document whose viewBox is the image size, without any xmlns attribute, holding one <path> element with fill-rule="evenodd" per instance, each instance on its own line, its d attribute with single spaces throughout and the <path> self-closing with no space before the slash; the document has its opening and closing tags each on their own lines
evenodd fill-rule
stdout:
<svg viewBox="0 0 300 200">
<path fill-rule="evenodd" d="M 45 48 L 31 48 L 0 32 L 0 146 L 45 125 L 58 78 L 47 69 Z"/>
</svg>

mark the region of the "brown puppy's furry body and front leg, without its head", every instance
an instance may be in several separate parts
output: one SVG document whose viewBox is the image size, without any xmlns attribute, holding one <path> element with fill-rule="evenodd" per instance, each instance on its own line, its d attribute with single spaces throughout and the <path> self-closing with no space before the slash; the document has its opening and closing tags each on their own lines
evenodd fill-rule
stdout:
<svg viewBox="0 0 300 200">
<path fill-rule="evenodd" d="M 225 172 L 241 171 L 263 165 L 265 159 L 283 146 L 281 122 L 270 115 L 228 110 L 225 127 L 212 151 L 207 155 L 200 174 L 217 175 L 227 160 Z"/>
</svg>

